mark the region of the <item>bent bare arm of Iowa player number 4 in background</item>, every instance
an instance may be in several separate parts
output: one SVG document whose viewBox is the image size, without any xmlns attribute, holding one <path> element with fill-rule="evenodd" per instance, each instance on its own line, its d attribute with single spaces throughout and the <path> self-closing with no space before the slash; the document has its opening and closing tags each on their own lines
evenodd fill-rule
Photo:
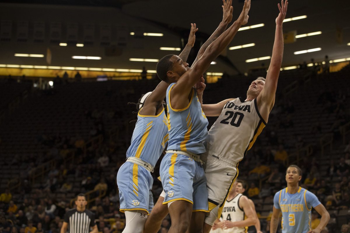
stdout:
<svg viewBox="0 0 350 233">
<path fill-rule="evenodd" d="M 244 214 L 247 216 L 246 219 L 242 221 L 236 221 L 231 222 L 229 220 L 225 220 L 222 223 L 223 228 L 232 228 L 232 227 L 246 227 L 246 226 L 252 226 L 256 223 L 256 219 L 253 213 L 253 209 L 251 204 L 249 203 L 249 200 L 246 196 L 241 196 L 239 198 L 239 205 L 243 209 Z"/>
</svg>

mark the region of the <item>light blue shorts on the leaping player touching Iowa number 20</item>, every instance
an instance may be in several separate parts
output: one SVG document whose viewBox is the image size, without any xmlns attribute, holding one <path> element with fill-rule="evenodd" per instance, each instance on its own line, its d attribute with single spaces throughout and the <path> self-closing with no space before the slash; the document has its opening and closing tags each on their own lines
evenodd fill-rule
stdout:
<svg viewBox="0 0 350 233">
<path fill-rule="evenodd" d="M 186 155 L 167 153 L 160 163 L 160 177 L 165 191 L 163 204 L 184 200 L 193 211 L 208 211 L 208 191 L 200 162 Z"/>
</svg>

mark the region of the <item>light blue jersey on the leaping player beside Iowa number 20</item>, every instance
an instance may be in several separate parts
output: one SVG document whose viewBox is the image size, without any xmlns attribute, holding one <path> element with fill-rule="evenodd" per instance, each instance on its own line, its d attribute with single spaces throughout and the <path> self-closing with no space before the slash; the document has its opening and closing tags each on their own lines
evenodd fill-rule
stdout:
<svg viewBox="0 0 350 233">
<path fill-rule="evenodd" d="M 186 108 L 174 109 L 170 103 L 170 91 L 176 83 L 167 89 L 168 106 L 168 150 L 188 151 L 194 154 L 204 153 L 205 139 L 208 135 L 208 119 L 201 108 L 197 92 L 192 89 L 192 97 Z"/>
</svg>

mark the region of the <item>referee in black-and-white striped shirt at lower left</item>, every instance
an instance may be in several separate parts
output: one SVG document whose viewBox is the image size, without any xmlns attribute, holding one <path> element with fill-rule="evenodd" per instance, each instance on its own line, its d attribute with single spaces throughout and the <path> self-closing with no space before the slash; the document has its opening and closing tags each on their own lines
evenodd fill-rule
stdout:
<svg viewBox="0 0 350 233">
<path fill-rule="evenodd" d="M 90 233 L 97 233 L 94 214 L 85 209 L 87 202 L 84 194 L 78 194 L 75 205 L 77 206 L 75 209 L 71 209 L 64 214 L 61 233 L 67 232 L 68 224 L 70 233 L 89 233 L 90 227 L 92 228 Z"/>
</svg>

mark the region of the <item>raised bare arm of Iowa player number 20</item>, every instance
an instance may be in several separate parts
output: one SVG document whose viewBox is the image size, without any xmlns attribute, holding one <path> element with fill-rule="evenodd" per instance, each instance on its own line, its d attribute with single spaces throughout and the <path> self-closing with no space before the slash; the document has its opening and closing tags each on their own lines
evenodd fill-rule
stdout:
<svg viewBox="0 0 350 233">
<path fill-rule="evenodd" d="M 265 87 L 257 97 L 257 104 L 262 118 L 267 122 L 268 115 L 274 105 L 275 94 L 277 89 L 278 77 L 283 58 L 283 31 L 282 23 L 287 13 L 288 0 L 281 5 L 278 3 L 280 13 L 276 18 L 275 42 L 272 49 L 271 63 L 266 75 Z"/>
</svg>

